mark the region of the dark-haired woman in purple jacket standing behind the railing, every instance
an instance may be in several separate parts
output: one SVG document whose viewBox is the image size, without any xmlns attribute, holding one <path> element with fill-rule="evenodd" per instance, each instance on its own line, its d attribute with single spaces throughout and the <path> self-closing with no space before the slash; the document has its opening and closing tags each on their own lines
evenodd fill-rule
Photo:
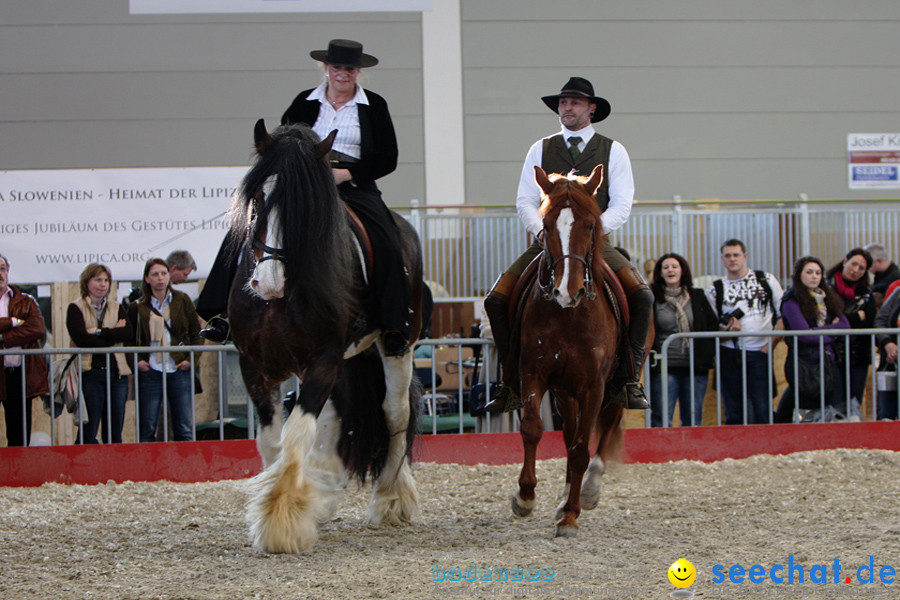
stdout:
<svg viewBox="0 0 900 600">
<path fill-rule="evenodd" d="M 823 273 L 822 261 L 813 256 L 804 256 L 794 264 L 792 276 L 793 286 L 785 292 L 781 299 L 781 316 L 786 331 L 821 331 L 827 329 L 849 329 L 850 322 L 844 316 L 843 302 L 837 292 L 828 285 Z M 784 374 L 788 387 L 781 396 L 778 409 L 775 411 L 776 423 L 790 423 L 797 401 L 795 394 L 794 351 L 798 354 L 798 362 L 819 363 L 819 340 L 822 339 L 825 351 L 825 368 L 829 366 L 834 372 L 832 385 L 825 389 L 825 415 L 820 413 L 821 399 L 819 393 L 806 397 L 800 395 L 799 408 L 812 409 L 804 421 L 832 420 L 835 414 L 834 405 L 843 398 L 843 380 L 837 368 L 835 343 L 838 338 L 830 335 L 786 336 L 788 345 L 787 359 L 784 363 Z M 796 339 L 796 344 L 795 340 Z M 830 409 L 830 410 L 829 410 Z"/>
</svg>

